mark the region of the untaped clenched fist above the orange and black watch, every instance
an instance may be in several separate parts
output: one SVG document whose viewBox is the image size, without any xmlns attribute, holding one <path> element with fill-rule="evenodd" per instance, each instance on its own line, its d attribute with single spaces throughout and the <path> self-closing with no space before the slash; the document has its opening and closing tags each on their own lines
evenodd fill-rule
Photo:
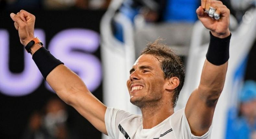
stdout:
<svg viewBox="0 0 256 139">
<path fill-rule="evenodd" d="M 21 44 L 26 46 L 34 38 L 36 17 L 25 10 L 20 10 L 16 15 L 11 13 L 10 16 L 18 30 Z"/>
</svg>

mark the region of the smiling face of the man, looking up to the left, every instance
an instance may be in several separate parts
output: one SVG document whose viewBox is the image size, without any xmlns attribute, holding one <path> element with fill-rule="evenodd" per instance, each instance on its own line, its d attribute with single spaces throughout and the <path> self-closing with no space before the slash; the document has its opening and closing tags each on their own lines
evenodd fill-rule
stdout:
<svg viewBox="0 0 256 139">
<path fill-rule="evenodd" d="M 162 98 L 165 84 L 164 72 L 154 55 L 141 55 L 130 70 L 127 88 L 130 101 L 138 107 L 155 104 Z"/>
</svg>

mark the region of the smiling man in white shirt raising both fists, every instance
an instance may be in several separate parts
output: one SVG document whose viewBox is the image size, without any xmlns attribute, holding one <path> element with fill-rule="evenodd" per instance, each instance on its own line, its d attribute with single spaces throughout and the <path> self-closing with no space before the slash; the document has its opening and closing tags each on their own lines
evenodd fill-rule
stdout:
<svg viewBox="0 0 256 139">
<path fill-rule="evenodd" d="M 211 13 L 214 8 L 215 13 Z M 10 16 L 20 42 L 32 54 L 44 79 L 64 102 L 73 106 L 100 132 L 116 139 L 208 139 L 227 72 L 231 37 L 229 10 L 220 1 L 202 0 L 196 13 L 203 25 L 211 30 L 198 88 L 192 92 L 186 107 L 174 113 L 184 80 L 183 66 L 168 48 L 153 43 L 136 60 L 127 80 L 130 101 L 141 109 L 142 115 L 109 108 L 99 102 L 74 72 L 34 38 L 35 16 L 24 10 Z M 207 13 L 218 15 L 220 19 L 215 20 Z"/>
</svg>

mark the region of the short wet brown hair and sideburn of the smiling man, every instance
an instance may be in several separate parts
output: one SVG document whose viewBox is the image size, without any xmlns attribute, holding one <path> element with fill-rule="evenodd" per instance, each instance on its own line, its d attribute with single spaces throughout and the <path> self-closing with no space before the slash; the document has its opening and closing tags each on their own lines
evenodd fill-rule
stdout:
<svg viewBox="0 0 256 139">
<path fill-rule="evenodd" d="M 169 48 L 165 44 L 159 43 L 159 41 L 162 41 L 162 39 L 157 39 L 155 42 L 147 44 L 147 47 L 141 52 L 140 55 L 154 55 L 160 62 L 160 67 L 164 72 L 165 79 L 170 79 L 171 77 L 179 78 L 180 84 L 177 88 L 175 88 L 172 98 L 174 108 L 178 101 L 180 90 L 182 89 L 184 84 L 184 65 L 180 57 L 177 56 L 171 48 Z"/>
</svg>

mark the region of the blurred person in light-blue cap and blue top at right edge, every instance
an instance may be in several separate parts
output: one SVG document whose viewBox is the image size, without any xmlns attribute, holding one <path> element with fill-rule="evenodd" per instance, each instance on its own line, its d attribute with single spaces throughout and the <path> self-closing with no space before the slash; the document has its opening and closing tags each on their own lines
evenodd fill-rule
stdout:
<svg viewBox="0 0 256 139">
<path fill-rule="evenodd" d="M 227 126 L 226 139 L 256 139 L 256 81 L 246 80 L 239 95 L 237 116 Z"/>
</svg>

